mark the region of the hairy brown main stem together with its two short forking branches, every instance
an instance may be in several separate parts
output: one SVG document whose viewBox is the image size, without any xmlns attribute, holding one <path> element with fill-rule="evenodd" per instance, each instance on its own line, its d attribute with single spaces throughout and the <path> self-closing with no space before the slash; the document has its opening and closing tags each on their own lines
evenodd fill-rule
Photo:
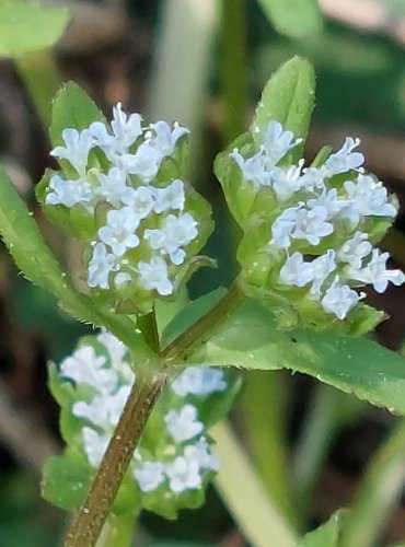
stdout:
<svg viewBox="0 0 405 547">
<path fill-rule="evenodd" d="M 238 281 L 235 281 L 227 294 L 206 315 L 197 319 L 161 351 L 162 362 L 164 360 L 166 365 L 183 360 L 193 346 L 202 342 L 216 326 L 229 317 L 241 302 L 241 298 Z M 153 349 L 159 351 L 154 313 L 146 315 L 138 326 L 149 342 L 153 342 Z M 141 371 L 137 371 L 136 383 L 129 394 L 118 426 L 63 547 L 95 546 L 149 415 L 166 383 L 167 374 L 163 371 L 162 364 L 160 372 L 153 377 L 142 376 Z"/>
</svg>

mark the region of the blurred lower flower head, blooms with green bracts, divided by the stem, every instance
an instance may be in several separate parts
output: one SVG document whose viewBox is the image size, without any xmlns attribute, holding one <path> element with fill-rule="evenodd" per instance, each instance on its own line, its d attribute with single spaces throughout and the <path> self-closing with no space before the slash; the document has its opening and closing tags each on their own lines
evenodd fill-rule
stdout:
<svg viewBox="0 0 405 547">
<path fill-rule="evenodd" d="M 126 347 L 109 333 L 83 339 L 58 368 L 74 396 L 63 411 L 80 420 L 76 449 L 96 468 L 117 426 L 135 374 Z M 129 474 L 144 507 L 159 512 L 182 507 L 182 496 L 201 490 L 219 462 L 212 454 L 202 407 L 229 388 L 221 369 L 189 366 L 169 385 L 152 412 L 132 457 Z M 210 403 L 209 403 L 210 401 Z"/>
</svg>

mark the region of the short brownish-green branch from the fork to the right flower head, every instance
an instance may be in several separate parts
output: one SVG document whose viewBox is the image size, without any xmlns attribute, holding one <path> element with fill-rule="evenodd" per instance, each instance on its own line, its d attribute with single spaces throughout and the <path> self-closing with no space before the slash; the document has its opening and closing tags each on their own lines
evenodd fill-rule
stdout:
<svg viewBox="0 0 405 547">
<path fill-rule="evenodd" d="M 197 319 L 187 330 L 163 349 L 161 354 L 165 362 L 170 364 L 182 361 L 192 348 L 204 344 L 210 333 L 239 306 L 242 298 L 243 294 L 236 280 L 227 294 L 206 315 Z"/>
</svg>

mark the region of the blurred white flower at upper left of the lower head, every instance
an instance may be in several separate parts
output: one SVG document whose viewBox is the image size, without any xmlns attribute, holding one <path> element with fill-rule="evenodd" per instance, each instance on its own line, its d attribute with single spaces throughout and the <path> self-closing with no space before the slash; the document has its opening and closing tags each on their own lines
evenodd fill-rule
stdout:
<svg viewBox="0 0 405 547">
<path fill-rule="evenodd" d="M 91 346 L 83 346 L 61 362 L 60 374 L 79 385 L 86 384 L 99 393 L 107 394 L 116 388 L 118 376 L 104 365 L 105 357 L 97 356 Z"/>
</svg>

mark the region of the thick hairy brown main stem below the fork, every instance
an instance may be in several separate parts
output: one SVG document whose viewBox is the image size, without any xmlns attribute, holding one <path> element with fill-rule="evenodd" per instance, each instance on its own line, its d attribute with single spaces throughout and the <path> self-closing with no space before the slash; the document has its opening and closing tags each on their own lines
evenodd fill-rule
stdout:
<svg viewBox="0 0 405 547">
<path fill-rule="evenodd" d="M 137 374 L 97 475 L 63 547 L 94 547 L 107 520 L 144 424 L 166 382 L 166 376 L 162 373 L 151 380 L 139 376 L 140 374 Z"/>
</svg>

